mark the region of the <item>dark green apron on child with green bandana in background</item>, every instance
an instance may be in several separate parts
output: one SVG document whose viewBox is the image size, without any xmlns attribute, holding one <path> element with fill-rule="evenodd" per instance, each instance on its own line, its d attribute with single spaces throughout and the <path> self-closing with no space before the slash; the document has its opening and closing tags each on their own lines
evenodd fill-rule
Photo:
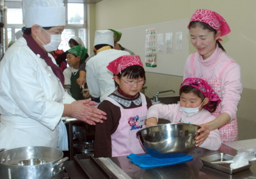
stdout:
<svg viewBox="0 0 256 179">
<path fill-rule="evenodd" d="M 77 84 L 76 79 L 79 78 L 79 73 L 71 73 L 71 89 L 70 92 L 72 94 L 72 97 L 75 100 L 84 100 L 83 95 L 81 95 L 82 88 Z"/>
</svg>

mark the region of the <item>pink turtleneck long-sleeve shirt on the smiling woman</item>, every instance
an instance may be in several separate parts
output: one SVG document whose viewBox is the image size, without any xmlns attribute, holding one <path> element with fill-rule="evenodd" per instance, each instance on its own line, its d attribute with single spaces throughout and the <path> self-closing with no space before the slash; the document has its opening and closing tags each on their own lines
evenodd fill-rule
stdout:
<svg viewBox="0 0 256 179">
<path fill-rule="evenodd" d="M 194 56 L 194 75 L 203 78 L 218 78 L 225 65 L 234 61 L 230 56 L 216 46 L 213 54 L 203 59 L 198 53 Z M 191 77 L 191 55 L 185 63 L 184 79 Z M 237 63 L 231 63 L 221 76 L 221 113 L 226 112 L 231 120 L 236 117 L 237 105 L 241 98 L 243 84 L 241 83 L 241 68 Z"/>
</svg>

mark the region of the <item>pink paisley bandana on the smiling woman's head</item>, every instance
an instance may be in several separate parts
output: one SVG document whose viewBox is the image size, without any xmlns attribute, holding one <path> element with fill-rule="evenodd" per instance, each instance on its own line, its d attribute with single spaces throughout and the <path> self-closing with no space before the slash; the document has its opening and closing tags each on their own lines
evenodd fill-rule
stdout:
<svg viewBox="0 0 256 179">
<path fill-rule="evenodd" d="M 217 31 L 220 30 L 221 36 L 227 35 L 231 31 L 226 20 L 217 12 L 211 10 L 196 10 L 194 15 L 190 19 L 190 22 L 192 21 L 200 21 L 207 23 L 213 29 Z M 222 41 L 221 39 L 218 40 Z"/>
</svg>

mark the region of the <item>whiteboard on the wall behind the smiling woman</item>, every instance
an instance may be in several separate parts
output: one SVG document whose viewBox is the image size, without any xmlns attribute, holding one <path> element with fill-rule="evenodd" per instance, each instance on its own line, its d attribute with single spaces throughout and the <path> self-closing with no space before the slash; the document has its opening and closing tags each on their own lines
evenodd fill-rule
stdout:
<svg viewBox="0 0 256 179">
<path fill-rule="evenodd" d="M 146 72 L 169 74 L 173 76 L 183 76 L 185 61 L 189 56 L 190 35 L 187 28 L 189 19 L 157 23 L 154 25 L 133 27 L 118 30 L 122 32 L 121 40 L 118 44 L 124 46 L 139 55 L 144 63 Z M 146 67 L 145 65 L 145 31 L 156 29 L 157 34 L 163 34 L 163 54 L 157 53 L 155 62 L 157 67 Z M 172 32 L 172 54 L 167 54 L 166 33 Z M 176 50 L 176 33 L 182 32 L 182 50 Z M 180 46 L 180 45 L 179 45 Z"/>
</svg>

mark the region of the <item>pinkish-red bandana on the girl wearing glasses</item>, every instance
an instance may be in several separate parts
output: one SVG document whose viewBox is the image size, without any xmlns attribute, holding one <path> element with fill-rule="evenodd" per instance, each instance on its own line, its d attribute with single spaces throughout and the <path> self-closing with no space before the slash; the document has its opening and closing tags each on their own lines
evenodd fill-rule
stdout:
<svg viewBox="0 0 256 179">
<path fill-rule="evenodd" d="M 107 68 L 117 75 L 118 73 L 121 73 L 121 71 L 127 67 L 130 67 L 132 65 L 140 65 L 143 67 L 143 63 L 141 62 L 139 55 L 124 55 L 120 56 L 117 59 L 110 62 L 107 66 Z"/>
</svg>

